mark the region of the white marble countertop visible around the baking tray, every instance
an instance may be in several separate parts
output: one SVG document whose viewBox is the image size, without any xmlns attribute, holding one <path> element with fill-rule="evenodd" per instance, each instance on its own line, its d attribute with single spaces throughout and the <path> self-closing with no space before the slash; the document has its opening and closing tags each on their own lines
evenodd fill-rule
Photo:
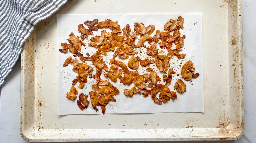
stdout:
<svg viewBox="0 0 256 143">
<path fill-rule="evenodd" d="M 244 58 L 244 109 L 245 132 L 235 141 L 200 141 L 253 143 L 256 140 L 256 1 L 242 0 L 243 58 Z M 25 143 L 20 135 L 20 59 L 0 88 L 0 142 Z M 174 141 L 178 142 L 178 141 Z M 188 141 L 179 141 L 179 143 Z M 191 143 L 198 141 L 189 141 Z"/>
</svg>

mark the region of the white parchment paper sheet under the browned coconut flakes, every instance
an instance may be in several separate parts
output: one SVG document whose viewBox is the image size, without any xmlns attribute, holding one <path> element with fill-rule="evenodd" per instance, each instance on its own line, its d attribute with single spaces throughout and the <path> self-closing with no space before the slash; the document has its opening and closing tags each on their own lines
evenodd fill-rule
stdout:
<svg viewBox="0 0 256 143">
<path fill-rule="evenodd" d="M 164 30 L 163 25 L 169 21 L 169 19 L 177 19 L 179 16 L 184 18 L 184 28 L 180 29 L 181 36 L 185 35 L 186 38 L 184 39 L 184 47 L 180 53 L 186 54 L 184 59 L 178 60 L 176 56 L 172 56 L 170 59 L 170 66 L 176 71 L 176 74 L 172 76 L 172 82 L 169 85 L 170 90 L 174 90 L 174 85 L 179 78 L 182 77 L 181 75 L 181 67 L 182 65 L 191 60 L 194 63 L 195 73 L 198 72 L 200 74 L 199 77 L 196 79 L 192 79 L 191 81 L 182 81 L 186 84 L 186 92 L 180 94 L 177 93 L 178 98 L 175 101 L 168 101 L 166 103 L 162 103 L 162 105 L 158 105 L 154 103 L 151 99 L 151 96 L 143 97 L 142 94 L 134 94 L 132 97 L 127 97 L 123 94 L 124 89 L 130 89 L 134 87 L 132 83 L 129 86 L 124 86 L 120 83 L 120 80 L 117 79 L 117 82 L 114 83 L 110 79 L 111 82 L 117 89 L 120 91 L 119 94 L 115 95 L 114 98 L 116 102 L 110 101 L 106 105 L 106 112 L 105 114 L 132 114 L 132 113 L 171 113 L 171 112 L 204 112 L 204 104 L 203 104 L 203 45 L 202 45 L 202 13 L 154 13 L 154 14 L 83 14 L 83 15 L 69 15 L 69 14 L 57 14 L 57 80 L 58 80 L 58 90 L 57 90 L 57 115 L 67 115 L 67 114 L 102 114 L 100 106 L 97 106 L 99 111 L 95 111 L 92 108 L 91 103 L 89 104 L 87 109 L 83 111 L 79 109 L 76 104 L 76 100 L 78 99 L 78 95 L 83 92 L 84 94 L 88 95 L 88 101 L 90 101 L 90 95 L 88 92 L 93 91 L 91 84 L 96 84 L 96 80 L 93 78 L 87 78 L 88 82 L 85 84 L 83 89 L 78 88 L 79 83 L 75 85 L 76 89 L 78 90 L 77 99 L 75 101 L 69 100 L 66 98 L 66 93 L 70 91 L 72 86 L 72 80 L 76 78 L 77 73 L 72 71 L 73 65 L 69 64 L 67 67 L 63 67 L 63 63 L 69 56 L 72 56 L 72 59 L 75 57 L 72 53 L 60 53 L 59 49 L 61 47 L 61 43 L 67 42 L 66 39 L 69 38 L 69 34 L 73 32 L 75 36 L 81 35 L 79 31 L 77 31 L 77 25 L 83 24 L 83 22 L 89 20 L 92 21 L 94 19 L 98 19 L 99 21 L 104 21 L 105 19 L 111 19 L 113 21 L 118 21 L 121 29 L 125 27 L 126 24 L 129 24 L 131 27 L 131 31 L 134 31 L 134 22 L 142 22 L 145 26 L 149 24 L 155 24 L 155 30 L 160 29 L 160 31 Z M 87 26 L 84 24 L 85 28 Z M 92 56 L 97 49 L 94 47 L 88 46 L 88 42 L 93 36 L 99 35 L 100 31 L 93 31 L 93 35 L 90 35 L 87 39 L 83 42 L 86 44 L 85 47 L 82 46 L 81 53 L 84 54 L 86 57 L 86 53 L 89 53 Z M 106 29 L 107 32 L 111 32 L 110 29 Z M 151 34 L 155 34 L 155 31 Z M 138 41 L 139 37 L 137 38 Z M 137 43 L 137 42 L 136 42 Z M 145 42 L 144 45 L 147 47 L 149 46 L 148 42 Z M 174 48 L 175 46 L 173 46 Z M 158 44 L 158 49 L 160 49 Z M 146 55 L 146 48 L 138 48 L 135 49 L 138 52 L 138 56 L 141 59 L 149 58 L 153 59 L 152 57 L 148 57 Z M 166 49 L 160 49 L 160 55 L 167 54 Z M 103 60 L 105 63 L 110 67 L 109 59 L 112 59 L 114 52 L 107 52 L 107 56 L 103 56 Z M 136 55 L 135 55 L 136 56 Z M 131 56 L 129 56 L 131 57 Z M 79 57 L 76 57 L 79 61 Z M 118 56 L 116 57 L 117 60 L 124 62 L 127 65 L 128 59 L 122 60 Z M 178 61 L 177 61 L 178 60 Z M 81 62 L 81 61 L 80 61 Z M 92 65 L 92 61 L 87 61 L 85 64 Z M 181 65 L 181 67 L 180 67 Z M 96 73 L 95 66 L 93 74 Z M 127 66 L 128 67 L 128 66 Z M 151 64 L 151 67 L 154 71 L 157 71 L 158 75 L 161 78 L 161 81 L 158 83 L 164 84 L 162 81 L 163 73 L 159 72 L 159 69 L 155 66 L 155 64 Z M 144 74 L 146 68 L 142 68 L 139 65 L 139 74 Z M 131 70 L 131 69 L 129 69 Z M 133 71 L 133 70 L 131 70 Z M 102 70 L 101 78 L 106 80 L 105 73 Z M 179 74 L 177 76 L 177 74 Z M 148 82 L 149 83 L 149 82 Z M 147 85 L 148 85 L 147 83 Z M 138 87 L 137 87 L 138 89 Z M 147 87 L 147 89 L 150 89 Z M 143 91 L 142 91 L 143 92 Z M 159 97 L 159 93 L 157 94 Z"/>
</svg>

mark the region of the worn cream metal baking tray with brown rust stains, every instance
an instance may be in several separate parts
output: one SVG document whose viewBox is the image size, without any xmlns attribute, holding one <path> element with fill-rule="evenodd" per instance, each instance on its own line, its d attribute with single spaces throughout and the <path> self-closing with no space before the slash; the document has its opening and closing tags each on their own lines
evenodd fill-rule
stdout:
<svg viewBox="0 0 256 143">
<path fill-rule="evenodd" d="M 204 113 L 57 116 L 56 13 L 200 11 Z M 73 0 L 56 13 L 37 24 L 21 54 L 20 133 L 25 140 L 235 140 L 243 135 L 241 0 Z"/>
</svg>

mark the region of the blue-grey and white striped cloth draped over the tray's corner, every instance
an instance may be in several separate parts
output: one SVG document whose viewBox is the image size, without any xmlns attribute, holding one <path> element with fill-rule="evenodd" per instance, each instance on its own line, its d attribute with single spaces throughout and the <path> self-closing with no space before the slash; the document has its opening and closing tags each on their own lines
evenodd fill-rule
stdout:
<svg viewBox="0 0 256 143">
<path fill-rule="evenodd" d="M 0 87 L 36 24 L 67 0 L 0 0 Z"/>
</svg>

